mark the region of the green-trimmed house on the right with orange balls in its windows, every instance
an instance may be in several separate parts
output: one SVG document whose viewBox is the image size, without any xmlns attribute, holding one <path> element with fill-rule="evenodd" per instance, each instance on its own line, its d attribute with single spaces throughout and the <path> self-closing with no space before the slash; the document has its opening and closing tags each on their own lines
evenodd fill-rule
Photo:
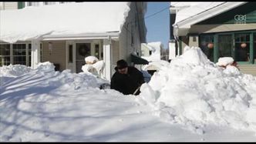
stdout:
<svg viewBox="0 0 256 144">
<path fill-rule="evenodd" d="M 246 65 L 254 74 L 256 2 L 201 2 L 200 6 L 173 6 L 170 10 L 170 16 L 176 17 L 170 27 L 177 55 L 184 52 L 186 45 L 198 46 L 211 62 L 232 57 L 241 69 Z"/>
</svg>

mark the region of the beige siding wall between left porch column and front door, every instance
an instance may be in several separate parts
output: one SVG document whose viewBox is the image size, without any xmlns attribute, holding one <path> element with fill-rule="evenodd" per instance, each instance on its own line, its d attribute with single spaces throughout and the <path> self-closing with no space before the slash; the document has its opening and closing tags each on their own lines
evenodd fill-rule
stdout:
<svg viewBox="0 0 256 144">
<path fill-rule="evenodd" d="M 52 53 L 50 55 L 49 42 L 42 42 L 42 62 L 52 62 L 60 65 L 60 70 L 66 69 L 66 42 L 65 41 L 50 41 L 52 42 Z"/>
</svg>

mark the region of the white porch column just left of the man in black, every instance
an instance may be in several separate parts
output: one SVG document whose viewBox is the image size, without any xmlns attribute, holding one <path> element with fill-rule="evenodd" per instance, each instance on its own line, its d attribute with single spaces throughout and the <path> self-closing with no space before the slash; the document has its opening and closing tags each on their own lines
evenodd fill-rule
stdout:
<svg viewBox="0 0 256 144">
<path fill-rule="evenodd" d="M 103 39 L 103 62 L 105 63 L 105 69 L 103 75 L 106 80 L 111 80 L 112 76 L 112 51 L 111 51 L 111 39 Z"/>
</svg>

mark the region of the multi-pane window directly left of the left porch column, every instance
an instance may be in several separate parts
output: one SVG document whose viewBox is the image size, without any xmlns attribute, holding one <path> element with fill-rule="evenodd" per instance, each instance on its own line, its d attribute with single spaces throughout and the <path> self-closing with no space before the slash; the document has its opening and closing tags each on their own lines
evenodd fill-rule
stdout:
<svg viewBox="0 0 256 144">
<path fill-rule="evenodd" d="M 13 45 L 13 65 L 26 65 L 25 44 Z"/>
</svg>

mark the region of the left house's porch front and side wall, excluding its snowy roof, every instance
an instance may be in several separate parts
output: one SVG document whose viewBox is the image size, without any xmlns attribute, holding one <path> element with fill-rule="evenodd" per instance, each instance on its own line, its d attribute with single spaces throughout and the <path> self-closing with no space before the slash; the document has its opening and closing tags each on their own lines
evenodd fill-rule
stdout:
<svg viewBox="0 0 256 144">
<path fill-rule="evenodd" d="M 70 3 L 72 2 L 69 2 L 69 5 Z M 17 5 L 22 5 L 19 8 L 30 5 L 40 7 L 44 3 L 18 2 Z M 130 11 L 120 31 L 90 32 L 83 35 L 42 35 L 40 39 L 21 39 L 14 43 L 2 40 L 0 42 L 0 66 L 21 64 L 35 68 L 39 62 L 49 61 L 56 65 L 56 70 L 71 69 L 72 72 L 82 72 L 85 57 L 94 55 L 105 62 L 104 76 L 110 80 L 115 72 L 116 61 L 126 59 L 130 65 L 136 64 L 130 55 L 136 53 L 140 57 L 140 44 L 146 42 L 146 26 L 143 16 L 147 10 L 147 3 L 130 2 L 129 7 Z M 11 28 L 10 32 L 12 32 Z"/>
</svg>

